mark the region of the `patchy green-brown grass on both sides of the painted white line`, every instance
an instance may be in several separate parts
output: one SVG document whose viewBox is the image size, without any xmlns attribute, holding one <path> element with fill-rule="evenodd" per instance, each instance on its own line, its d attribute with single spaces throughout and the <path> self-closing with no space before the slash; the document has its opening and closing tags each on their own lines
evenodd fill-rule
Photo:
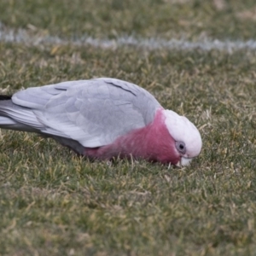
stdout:
<svg viewBox="0 0 256 256">
<path fill-rule="evenodd" d="M 216 1 L 137 2 L 3 0 L 1 21 L 63 38 L 255 39 L 245 13 L 253 1 L 223 1 L 224 9 Z M 188 116 L 203 139 L 191 166 L 168 170 L 143 160 L 90 162 L 52 140 L 1 130 L 1 255 L 255 255 L 255 51 L 2 42 L 0 55 L 5 93 L 67 79 L 125 79 Z"/>
</svg>

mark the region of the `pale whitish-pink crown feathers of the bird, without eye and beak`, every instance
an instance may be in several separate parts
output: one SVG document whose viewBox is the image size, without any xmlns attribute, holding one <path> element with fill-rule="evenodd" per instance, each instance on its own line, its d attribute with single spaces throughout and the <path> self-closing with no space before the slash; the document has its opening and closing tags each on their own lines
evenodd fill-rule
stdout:
<svg viewBox="0 0 256 256">
<path fill-rule="evenodd" d="M 201 135 L 194 124 L 184 116 L 172 110 L 164 110 L 165 123 L 168 131 L 176 142 L 183 142 L 186 146 L 186 158 L 193 158 L 201 152 Z"/>
</svg>

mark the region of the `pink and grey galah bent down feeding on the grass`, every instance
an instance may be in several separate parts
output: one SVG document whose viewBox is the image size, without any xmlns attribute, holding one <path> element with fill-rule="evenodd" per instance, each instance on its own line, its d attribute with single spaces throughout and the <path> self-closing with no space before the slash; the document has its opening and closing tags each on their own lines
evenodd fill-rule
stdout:
<svg viewBox="0 0 256 256">
<path fill-rule="evenodd" d="M 184 166 L 201 152 L 189 119 L 119 79 L 67 81 L 0 96 L 0 127 L 52 137 L 90 159 Z"/>
</svg>

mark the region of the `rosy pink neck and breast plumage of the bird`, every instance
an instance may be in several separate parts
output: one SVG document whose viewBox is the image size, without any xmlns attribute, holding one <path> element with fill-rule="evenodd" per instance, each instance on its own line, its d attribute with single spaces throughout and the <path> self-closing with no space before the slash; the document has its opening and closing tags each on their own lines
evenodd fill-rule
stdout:
<svg viewBox="0 0 256 256">
<path fill-rule="evenodd" d="M 166 117 L 163 112 L 164 109 L 160 108 L 151 124 L 131 131 L 119 137 L 112 145 L 102 148 L 104 154 L 114 155 L 116 153 L 121 158 L 132 155 L 136 158 L 162 163 L 177 162 L 179 155 L 175 149 L 175 142 L 166 128 Z"/>
</svg>

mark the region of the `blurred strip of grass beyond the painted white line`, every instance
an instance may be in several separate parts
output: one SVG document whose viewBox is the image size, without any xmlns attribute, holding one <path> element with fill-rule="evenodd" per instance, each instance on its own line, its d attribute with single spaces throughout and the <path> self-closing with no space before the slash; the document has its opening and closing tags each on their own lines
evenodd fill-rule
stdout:
<svg viewBox="0 0 256 256">
<path fill-rule="evenodd" d="M 216 2 L 224 3 L 220 7 Z M 60 36 L 256 38 L 254 0 L 1 0 L 1 21 Z"/>
</svg>

